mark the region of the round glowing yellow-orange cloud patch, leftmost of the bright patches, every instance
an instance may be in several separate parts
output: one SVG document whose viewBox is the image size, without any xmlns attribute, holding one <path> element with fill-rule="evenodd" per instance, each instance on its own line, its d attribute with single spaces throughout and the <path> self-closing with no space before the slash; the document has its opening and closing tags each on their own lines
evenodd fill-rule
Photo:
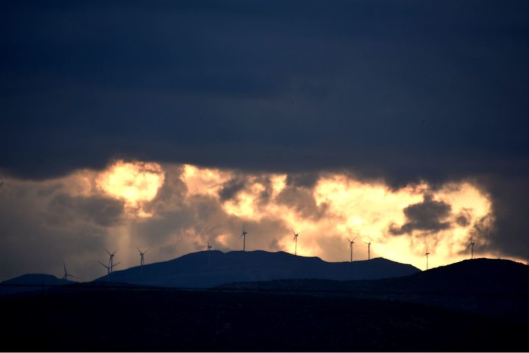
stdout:
<svg viewBox="0 0 529 353">
<path fill-rule="evenodd" d="M 118 161 L 96 177 L 96 185 L 103 193 L 123 200 L 129 213 L 149 217 L 143 206 L 154 200 L 164 180 L 160 164 Z"/>
</svg>

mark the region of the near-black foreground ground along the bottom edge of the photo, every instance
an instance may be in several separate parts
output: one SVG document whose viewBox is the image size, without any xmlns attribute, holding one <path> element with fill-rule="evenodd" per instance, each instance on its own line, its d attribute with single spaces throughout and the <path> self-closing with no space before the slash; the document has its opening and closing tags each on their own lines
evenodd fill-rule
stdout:
<svg viewBox="0 0 529 353">
<path fill-rule="evenodd" d="M 415 303 L 69 288 L 0 299 L 3 351 L 529 351 L 529 324 Z"/>
</svg>

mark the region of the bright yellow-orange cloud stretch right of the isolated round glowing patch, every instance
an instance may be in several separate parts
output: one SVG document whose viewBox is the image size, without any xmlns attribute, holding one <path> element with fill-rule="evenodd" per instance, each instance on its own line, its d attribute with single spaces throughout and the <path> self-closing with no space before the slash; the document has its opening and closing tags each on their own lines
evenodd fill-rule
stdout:
<svg viewBox="0 0 529 353">
<path fill-rule="evenodd" d="M 189 193 L 217 197 L 222 183 L 234 173 L 219 169 L 200 169 L 185 166 L 183 181 Z M 285 226 L 279 246 L 293 252 L 292 235 L 288 228 L 302 231 L 298 239 L 298 254 L 319 256 L 329 261 L 344 261 L 349 243 L 346 238 L 357 237 L 355 258 L 365 259 L 367 247 L 362 241 L 371 239 L 371 255 L 386 257 L 395 261 L 425 267 L 426 248 L 431 253 L 430 264 L 439 266 L 466 259 L 464 253 L 470 231 L 475 222 L 490 216 L 492 205 L 483 191 L 468 182 L 446 184 L 442 189 L 432 190 L 426 182 L 392 190 L 383 182 L 362 182 L 346 175 L 328 173 L 318 180 L 310 191 L 317 206 L 324 206 L 322 217 L 303 217 L 295 208 L 282 204 L 276 197 L 287 187 L 287 175 L 269 174 L 271 195 L 269 202 L 258 202 L 258 195 L 266 187 L 263 175 L 246 175 L 246 187 L 231 200 L 222 201 L 222 208 L 228 215 L 244 220 L 259 222 L 264 217 L 281 220 Z M 406 235 L 391 235 L 391 224 L 406 222 L 404 208 L 422 202 L 424 195 L 450 205 L 451 216 L 466 212 L 472 222 L 459 225 L 451 222 L 449 228 L 426 234 L 413 231 Z M 451 219 L 450 221 L 453 221 Z M 492 224 L 488 224 L 492 226 Z M 225 237 L 222 238 L 225 243 Z M 343 243 L 343 244 L 342 244 Z"/>
</svg>

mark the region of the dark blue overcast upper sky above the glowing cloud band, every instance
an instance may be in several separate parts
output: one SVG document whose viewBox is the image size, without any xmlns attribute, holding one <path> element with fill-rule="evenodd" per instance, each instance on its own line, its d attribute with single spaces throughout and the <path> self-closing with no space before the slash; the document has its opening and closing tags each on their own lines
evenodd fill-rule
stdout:
<svg viewBox="0 0 529 353">
<path fill-rule="evenodd" d="M 0 170 L 472 179 L 529 253 L 527 1 L 4 1 Z"/>
</svg>

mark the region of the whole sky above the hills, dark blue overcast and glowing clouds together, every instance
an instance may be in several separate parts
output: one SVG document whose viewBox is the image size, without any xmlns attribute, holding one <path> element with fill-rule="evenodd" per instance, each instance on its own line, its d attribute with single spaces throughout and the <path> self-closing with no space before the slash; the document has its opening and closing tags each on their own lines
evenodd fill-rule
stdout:
<svg viewBox="0 0 529 353">
<path fill-rule="evenodd" d="M 529 257 L 526 1 L 4 1 L 0 280 Z"/>
</svg>

